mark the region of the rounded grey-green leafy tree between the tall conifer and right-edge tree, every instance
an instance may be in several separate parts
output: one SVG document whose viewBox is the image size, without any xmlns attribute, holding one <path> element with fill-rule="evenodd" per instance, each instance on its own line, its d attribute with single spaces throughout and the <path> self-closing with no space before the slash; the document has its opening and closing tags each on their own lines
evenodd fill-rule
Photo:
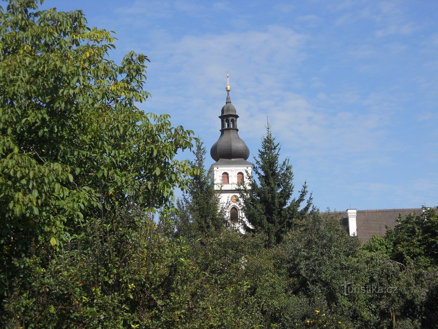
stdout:
<svg viewBox="0 0 438 329">
<path fill-rule="evenodd" d="M 335 318 L 342 328 L 388 328 L 394 311 L 397 327 L 420 328 L 423 318 L 433 318 L 425 300 L 434 296 L 426 287 L 435 289 L 435 275 L 416 278 L 418 272 L 388 255 L 364 250 L 334 216 L 307 216 L 272 249 L 276 267 L 287 273 L 287 289 L 300 301 L 301 314 L 291 316 L 295 321 L 323 327 Z M 318 311 L 313 316 L 312 308 Z"/>
</svg>

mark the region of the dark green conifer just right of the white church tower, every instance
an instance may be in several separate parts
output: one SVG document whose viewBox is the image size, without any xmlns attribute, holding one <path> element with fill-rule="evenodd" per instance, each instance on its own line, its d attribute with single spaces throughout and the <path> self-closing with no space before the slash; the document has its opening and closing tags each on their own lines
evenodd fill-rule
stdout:
<svg viewBox="0 0 438 329">
<path fill-rule="evenodd" d="M 264 232 L 268 236 L 268 244 L 273 245 L 279 243 L 283 235 L 311 209 L 312 194 L 306 200 L 308 191 L 304 182 L 298 198 L 290 200 L 294 190 L 292 165 L 289 158 L 280 162 L 281 147 L 275 142 L 269 125 L 266 129 L 258 159 L 254 157 L 253 175 L 247 187 L 242 186 L 240 199 L 250 224 L 244 225 L 245 229 L 248 232 Z"/>
</svg>

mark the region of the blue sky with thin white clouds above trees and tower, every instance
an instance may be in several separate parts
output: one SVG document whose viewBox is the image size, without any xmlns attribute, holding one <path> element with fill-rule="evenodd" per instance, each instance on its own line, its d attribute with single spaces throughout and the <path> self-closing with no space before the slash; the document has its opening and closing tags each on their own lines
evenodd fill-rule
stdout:
<svg viewBox="0 0 438 329">
<path fill-rule="evenodd" d="M 208 150 L 226 72 L 239 135 L 266 116 L 296 190 L 324 210 L 438 206 L 438 1 L 46 1 L 147 55 L 139 107 L 169 113 Z M 189 154 L 184 154 L 188 157 Z M 208 162 L 214 162 L 208 157 Z"/>
</svg>

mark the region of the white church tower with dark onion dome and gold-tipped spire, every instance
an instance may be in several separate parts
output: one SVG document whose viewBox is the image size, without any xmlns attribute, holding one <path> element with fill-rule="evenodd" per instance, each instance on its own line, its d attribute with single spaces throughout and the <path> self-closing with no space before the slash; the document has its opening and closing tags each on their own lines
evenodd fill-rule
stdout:
<svg viewBox="0 0 438 329">
<path fill-rule="evenodd" d="M 212 146 L 210 155 L 216 161 L 212 164 L 214 188 L 220 193 L 222 204 L 228 205 L 228 218 L 231 223 L 245 220 L 245 215 L 239 206 L 238 184 L 247 181 L 247 172 L 251 175 L 252 163 L 246 161 L 249 149 L 240 139 L 237 132 L 236 108 L 231 104 L 230 90 L 227 73 L 226 104 L 222 107 L 220 136 Z"/>
</svg>

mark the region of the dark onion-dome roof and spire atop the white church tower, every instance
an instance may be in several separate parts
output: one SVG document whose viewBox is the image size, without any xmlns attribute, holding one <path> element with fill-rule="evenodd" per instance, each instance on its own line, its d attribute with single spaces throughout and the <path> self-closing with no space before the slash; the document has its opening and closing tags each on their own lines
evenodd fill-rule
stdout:
<svg viewBox="0 0 438 329">
<path fill-rule="evenodd" d="M 212 146 L 210 155 L 217 161 L 216 164 L 227 165 L 252 165 L 246 161 L 249 157 L 249 149 L 245 142 L 240 139 L 237 132 L 237 118 L 236 108 L 231 104 L 230 89 L 227 86 L 226 104 L 222 107 L 220 136 L 218 141 Z"/>
</svg>

